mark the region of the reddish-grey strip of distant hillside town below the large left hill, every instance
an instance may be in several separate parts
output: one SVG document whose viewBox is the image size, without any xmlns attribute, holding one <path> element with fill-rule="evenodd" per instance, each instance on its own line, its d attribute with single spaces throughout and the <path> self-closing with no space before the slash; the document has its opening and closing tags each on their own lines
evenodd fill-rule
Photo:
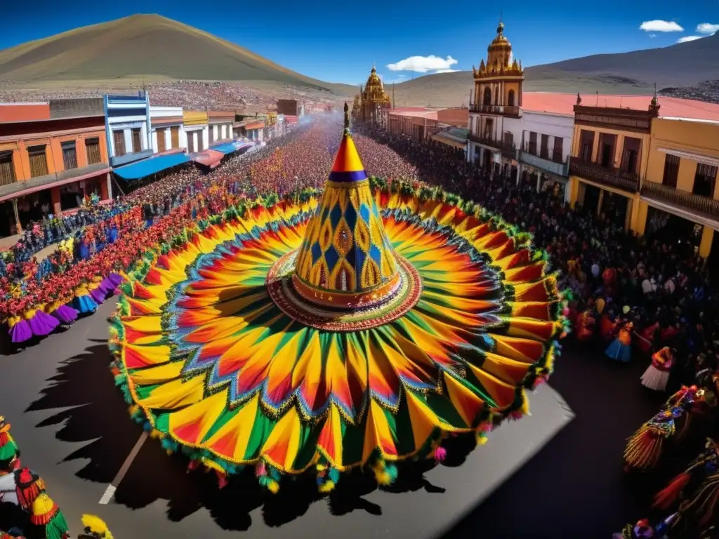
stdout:
<svg viewBox="0 0 719 539">
<path fill-rule="evenodd" d="M 119 95 L 136 93 L 142 89 L 141 85 L 129 85 L 126 88 L 112 90 L 66 89 L 57 91 L 18 91 L 0 86 L 0 103 L 22 103 L 25 101 L 50 101 L 50 99 L 79 99 L 102 97 L 104 93 Z M 164 83 L 150 83 L 145 85 L 150 93 L 150 105 L 181 106 L 185 109 L 198 109 L 211 111 L 253 108 L 265 109 L 278 99 L 297 99 L 305 101 L 321 100 L 317 96 L 308 96 L 290 86 L 283 86 L 281 90 L 250 88 L 241 83 L 204 82 L 200 80 L 174 80 Z"/>
</svg>

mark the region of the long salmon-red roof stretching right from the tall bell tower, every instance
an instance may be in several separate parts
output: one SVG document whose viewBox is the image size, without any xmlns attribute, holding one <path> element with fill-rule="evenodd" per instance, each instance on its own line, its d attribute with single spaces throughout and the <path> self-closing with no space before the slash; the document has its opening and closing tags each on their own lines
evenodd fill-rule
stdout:
<svg viewBox="0 0 719 539">
<path fill-rule="evenodd" d="M 585 94 L 581 97 L 582 106 L 645 111 L 649 109 L 652 96 L 604 96 L 601 94 L 592 96 L 592 94 Z M 659 96 L 658 99 L 661 106 L 660 118 L 719 121 L 718 104 L 677 97 Z M 524 92 L 522 94 L 523 111 L 574 116 L 574 105 L 576 104 L 576 93 Z"/>
</svg>

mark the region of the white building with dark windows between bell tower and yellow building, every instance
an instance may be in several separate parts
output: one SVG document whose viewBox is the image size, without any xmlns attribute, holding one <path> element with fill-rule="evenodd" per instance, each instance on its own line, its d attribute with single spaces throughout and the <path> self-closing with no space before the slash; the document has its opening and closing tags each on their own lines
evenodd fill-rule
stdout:
<svg viewBox="0 0 719 539">
<path fill-rule="evenodd" d="M 518 182 L 557 185 L 569 202 L 569 154 L 572 150 L 574 116 L 548 112 L 522 111 Z"/>
</svg>

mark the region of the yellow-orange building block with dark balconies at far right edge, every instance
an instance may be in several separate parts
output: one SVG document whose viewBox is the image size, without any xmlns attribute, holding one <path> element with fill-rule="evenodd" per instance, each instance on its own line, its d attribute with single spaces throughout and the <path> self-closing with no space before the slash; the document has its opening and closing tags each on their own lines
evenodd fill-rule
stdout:
<svg viewBox="0 0 719 539">
<path fill-rule="evenodd" d="M 572 206 L 623 213 L 638 235 L 687 241 L 710 256 L 719 230 L 719 105 L 656 96 L 587 101 L 577 96 L 574 105 Z"/>
</svg>

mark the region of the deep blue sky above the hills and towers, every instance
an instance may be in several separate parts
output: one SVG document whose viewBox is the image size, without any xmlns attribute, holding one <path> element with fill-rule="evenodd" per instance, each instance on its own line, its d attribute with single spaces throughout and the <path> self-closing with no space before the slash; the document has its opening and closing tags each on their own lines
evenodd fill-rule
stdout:
<svg viewBox="0 0 719 539">
<path fill-rule="evenodd" d="M 587 4 L 515 0 L 505 4 L 505 34 L 525 67 L 602 52 L 665 47 L 682 38 L 710 34 L 713 25 L 719 28 L 719 0 Z M 69 4 L 38 0 L 32 3 L 35 15 L 29 17 L 26 2 L 9 2 L 3 9 L 0 49 L 134 13 L 158 13 L 314 78 L 359 84 L 374 62 L 385 82 L 392 82 L 411 78 L 411 70 L 401 68 L 412 62 L 400 63 L 410 57 L 420 57 L 413 65 L 427 69 L 425 73 L 479 65 L 500 13 L 499 8 L 487 9 L 485 3 L 470 6 L 429 0 L 308 0 L 299 4 L 293 0 L 77 0 Z M 654 24 L 643 30 L 644 22 Z M 709 26 L 697 32 L 701 24 Z M 426 60 L 430 56 L 437 59 Z M 388 68 L 390 64 L 396 69 Z"/>
</svg>

